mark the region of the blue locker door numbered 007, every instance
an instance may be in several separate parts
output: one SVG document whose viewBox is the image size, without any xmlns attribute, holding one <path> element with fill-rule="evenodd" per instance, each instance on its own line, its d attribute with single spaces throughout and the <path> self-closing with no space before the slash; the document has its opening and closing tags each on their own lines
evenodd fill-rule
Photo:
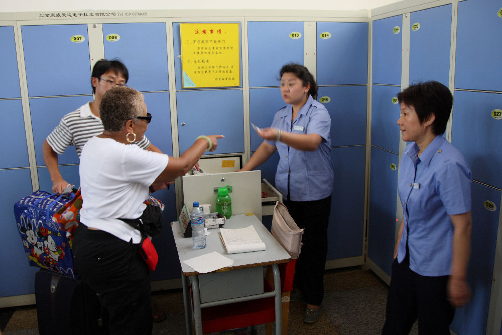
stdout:
<svg viewBox="0 0 502 335">
<path fill-rule="evenodd" d="M 29 96 L 92 94 L 87 25 L 22 26 Z"/>
</svg>

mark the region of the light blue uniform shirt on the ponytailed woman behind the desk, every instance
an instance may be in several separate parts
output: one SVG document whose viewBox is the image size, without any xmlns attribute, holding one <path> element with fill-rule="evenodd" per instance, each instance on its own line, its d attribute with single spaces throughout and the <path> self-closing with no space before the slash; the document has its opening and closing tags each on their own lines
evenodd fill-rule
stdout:
<svg viewBox="0 0 502 335">
<path fill-rule="evenodd" d="M 276 172 L 276 188 L 290 200 L 311 201 L 328 197 L 333 191 L 333 163 L 331 162 L 331 119 L 324 105 L 309 95 L 293 124 L 293 107 L 287 104 L 274 117 L 273 128 L 294 134 L 318 134 L 321 144 L 314 151 L 302 151 L 280 141 L 266 141 L 276 146 L 280 160 Z"/>
</svg>

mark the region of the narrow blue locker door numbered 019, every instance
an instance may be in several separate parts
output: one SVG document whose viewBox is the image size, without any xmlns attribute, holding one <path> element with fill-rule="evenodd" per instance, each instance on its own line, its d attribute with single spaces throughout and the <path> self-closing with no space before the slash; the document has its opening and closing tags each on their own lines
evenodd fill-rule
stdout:
<svg viewBox="0 0 502 335">
<path fill-rule="evenodd" d="M 400 15 L 373 21 L 374 84 L 401 85 L 402 25 Z"/>
</svg>

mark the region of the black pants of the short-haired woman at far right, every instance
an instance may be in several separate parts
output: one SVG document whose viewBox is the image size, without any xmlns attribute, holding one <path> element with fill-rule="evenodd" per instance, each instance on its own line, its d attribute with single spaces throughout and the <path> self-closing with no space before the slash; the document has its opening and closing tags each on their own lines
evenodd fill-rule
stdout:
<svg viewBox="0 0 502 335">
<path fill-rule="evenodd" d="M 420 335 L 449 335 L 455 309 L 447 299 L 448 277 L 421 276 L 394 260 L 382 334 L 408 334 L 418 318 Z"/>
</svg>

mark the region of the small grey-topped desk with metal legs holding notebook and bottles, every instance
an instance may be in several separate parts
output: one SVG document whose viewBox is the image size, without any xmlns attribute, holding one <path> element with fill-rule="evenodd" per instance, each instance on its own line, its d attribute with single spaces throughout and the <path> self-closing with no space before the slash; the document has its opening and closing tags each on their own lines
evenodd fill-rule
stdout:
<svg viewBox="0 0 502 335">
<path fill-rule="evenodd" d="M 291 256 L 253 214 L 232 215 L 226 221 L 225 228 L 239 229 L 250 225 L 254 226 L 265 243 L 266 250 L 227 254 L 219 237 L 219 228 L 209 230 L 210 234 L 206 236 L 206 248 L 195 250 L 192 248 L 192 239 L 182 237 L 179 222 L 172 222 L 171 228 L 181 263 L 187 335 L 192 333 L 192 315 L 195 333 L 202 334 L 201 308 L 268 297 L 275 298 L 276 334 L 282 334 L 281 280 L 278 264 L 289 262 Z M 208 274 L 200 274 L 183 262 L 213 251 L 232 259 L 233 265 Z M 263 266 L 268 265 L 273 269 L 274 291 L 263 293 Z M 262 291 L 253 292 L 260 285 Z M 193 304 L 191 304 L 190 287 Z"/>
</svg>

